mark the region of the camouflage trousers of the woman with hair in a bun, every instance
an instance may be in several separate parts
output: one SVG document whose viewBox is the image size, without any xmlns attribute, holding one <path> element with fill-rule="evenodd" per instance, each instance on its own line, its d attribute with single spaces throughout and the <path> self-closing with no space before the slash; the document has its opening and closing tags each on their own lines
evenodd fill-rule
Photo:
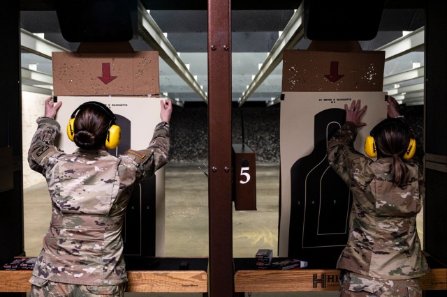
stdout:
<svg viewBox="0 0 447 297">
<path fill-rule="evenodd" d="M 89 297 L 117 296 L 123 297 L 126 284 L 110 286 L 87 286 L 85 284 L 66 284 L 63 282 L 45 282 L 42 287 L 31 284 L 30 297 Z"/>
</svg>

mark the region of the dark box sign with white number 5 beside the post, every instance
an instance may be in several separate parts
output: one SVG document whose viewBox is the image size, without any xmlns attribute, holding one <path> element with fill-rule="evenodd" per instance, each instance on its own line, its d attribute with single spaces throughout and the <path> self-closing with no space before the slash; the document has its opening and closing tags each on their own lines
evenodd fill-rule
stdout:
<svg viewBox="0 0 447 297">
<path fill-rule="evenodd" d="M 236 211 L 256 211 L 256 155 L 245 144 L 233 144 L 233 201 Z"/>
</svg>

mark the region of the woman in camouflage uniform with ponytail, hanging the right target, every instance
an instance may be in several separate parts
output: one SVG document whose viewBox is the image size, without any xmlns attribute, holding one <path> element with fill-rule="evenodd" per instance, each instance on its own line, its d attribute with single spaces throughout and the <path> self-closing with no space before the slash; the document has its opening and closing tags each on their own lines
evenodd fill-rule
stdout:
<svg viewBox="0 0 447 297">
<path fill-rule="evenodd" d="M 388 118 L 401 117 L 388 96 Z M 340 296 L 422 296 L 418 277 L 429 272 L 422 254 L 416 215 L 425 186 L 423 151 L 404 160 L 411 131 L 401 119 L 386 119 L 374 130 L 376 161 L 355 151 L 357 129 L 366 125 L 360 100 L 345 105 L 346 123 L 328 142 L 331 167 L 353 192 L 350 235 L 339 257 Z"/>
</svg>

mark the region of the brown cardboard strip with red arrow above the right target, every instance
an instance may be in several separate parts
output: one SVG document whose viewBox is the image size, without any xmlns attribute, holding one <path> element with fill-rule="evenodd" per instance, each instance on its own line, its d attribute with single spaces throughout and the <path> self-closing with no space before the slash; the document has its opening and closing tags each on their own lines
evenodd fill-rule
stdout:
<svg viewBox="0 0 447 297">
<path fill-rule="evenodd" d="M 283 92 L 383 90 L 385 52 L 285 50 L 283 57 Z"/>
</svg>

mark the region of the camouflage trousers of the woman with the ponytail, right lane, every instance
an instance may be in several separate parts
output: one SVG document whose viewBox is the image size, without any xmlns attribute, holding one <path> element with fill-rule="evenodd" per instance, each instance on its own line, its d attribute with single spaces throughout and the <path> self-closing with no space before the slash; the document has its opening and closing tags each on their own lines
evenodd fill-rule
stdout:
<svg viewBox="0 0 447 297">
<path fill-rule="evenodd" d="M 340 297 L 422 297 L 417 278 L 383 280 L 342 271 L 340 285 Z"/>
</svg>

